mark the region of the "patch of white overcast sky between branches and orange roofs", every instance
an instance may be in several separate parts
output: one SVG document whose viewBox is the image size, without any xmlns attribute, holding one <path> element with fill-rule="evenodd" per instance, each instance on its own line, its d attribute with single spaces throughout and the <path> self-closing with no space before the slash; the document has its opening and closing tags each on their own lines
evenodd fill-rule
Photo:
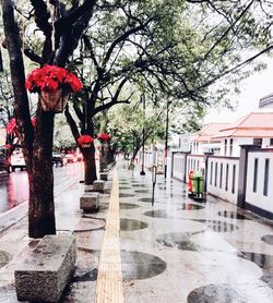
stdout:
<svg viewBox="0 0 273 303">
<path fill-rule="evenodd" d="M 273 59 L 268 63 L 268 69 L 251 75 L 241 84 L 241 94 L 234 99 L 238 102 L 235 112 L 229 110 L 211 110 L 204 122 L 233 122 L 242 116 L 256 111 L 260 98 L 273 93 Z"/>
</svg>

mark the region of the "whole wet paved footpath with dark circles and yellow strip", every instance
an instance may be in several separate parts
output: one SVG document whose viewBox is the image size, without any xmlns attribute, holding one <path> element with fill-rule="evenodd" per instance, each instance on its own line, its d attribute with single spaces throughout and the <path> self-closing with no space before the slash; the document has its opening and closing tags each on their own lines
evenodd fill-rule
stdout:
<svg viewBox="0 0 273 303">
<path fill-rule="evenodd" d="M 235 205 L 187 196 L 177 180 L 123 163 L 97 214 L 82 215 L 75 182 L 57 196 L 58 232 L 76 234 L 76 270 L 61 302 L 273 302 L 273 230 Z M 13 271 L 33 241 L 26 218 L 0 234 L 0 302 L 17 302 Z M 2 252 L 2 256 L 1 256 Z"/>
</svg>

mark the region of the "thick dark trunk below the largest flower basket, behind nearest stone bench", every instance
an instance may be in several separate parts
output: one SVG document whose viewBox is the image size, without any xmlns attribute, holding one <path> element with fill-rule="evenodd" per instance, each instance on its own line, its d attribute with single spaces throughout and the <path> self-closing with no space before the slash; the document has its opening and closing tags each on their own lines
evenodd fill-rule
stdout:
<svg viewBox="0 0 273 303">
<path fill-rule="evenodd" d="M 28 234 L 43 238 L 56 233 L 54 205 L 52 133 L 51 112 L 38 109 L 33 153 L 33 169 L 28 173 Z"/>
</svg>

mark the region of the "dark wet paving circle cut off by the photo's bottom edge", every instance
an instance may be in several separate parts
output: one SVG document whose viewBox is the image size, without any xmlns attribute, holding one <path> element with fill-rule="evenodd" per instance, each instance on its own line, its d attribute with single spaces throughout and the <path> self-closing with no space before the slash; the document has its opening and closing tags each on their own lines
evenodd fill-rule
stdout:
<svg viewBox="0 0 273 303">
<path fill-rule="evenodd" d="M 191 291 L 188 303 L 247 303 L 247 300 L 228 284 L 207 284 Z"/>
</svg>

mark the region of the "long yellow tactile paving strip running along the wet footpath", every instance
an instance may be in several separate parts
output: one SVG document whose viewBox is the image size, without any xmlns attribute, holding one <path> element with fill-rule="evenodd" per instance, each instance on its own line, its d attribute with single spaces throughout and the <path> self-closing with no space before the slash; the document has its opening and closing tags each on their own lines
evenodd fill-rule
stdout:
<svg viewBox="0 0 273 303">
<path fill-rule="evenodd" d="M 119 184 L 114 170 L 112 190 L 99 256 L 95 303 L 123 303 L 120 240 Z"/>
</svg>

